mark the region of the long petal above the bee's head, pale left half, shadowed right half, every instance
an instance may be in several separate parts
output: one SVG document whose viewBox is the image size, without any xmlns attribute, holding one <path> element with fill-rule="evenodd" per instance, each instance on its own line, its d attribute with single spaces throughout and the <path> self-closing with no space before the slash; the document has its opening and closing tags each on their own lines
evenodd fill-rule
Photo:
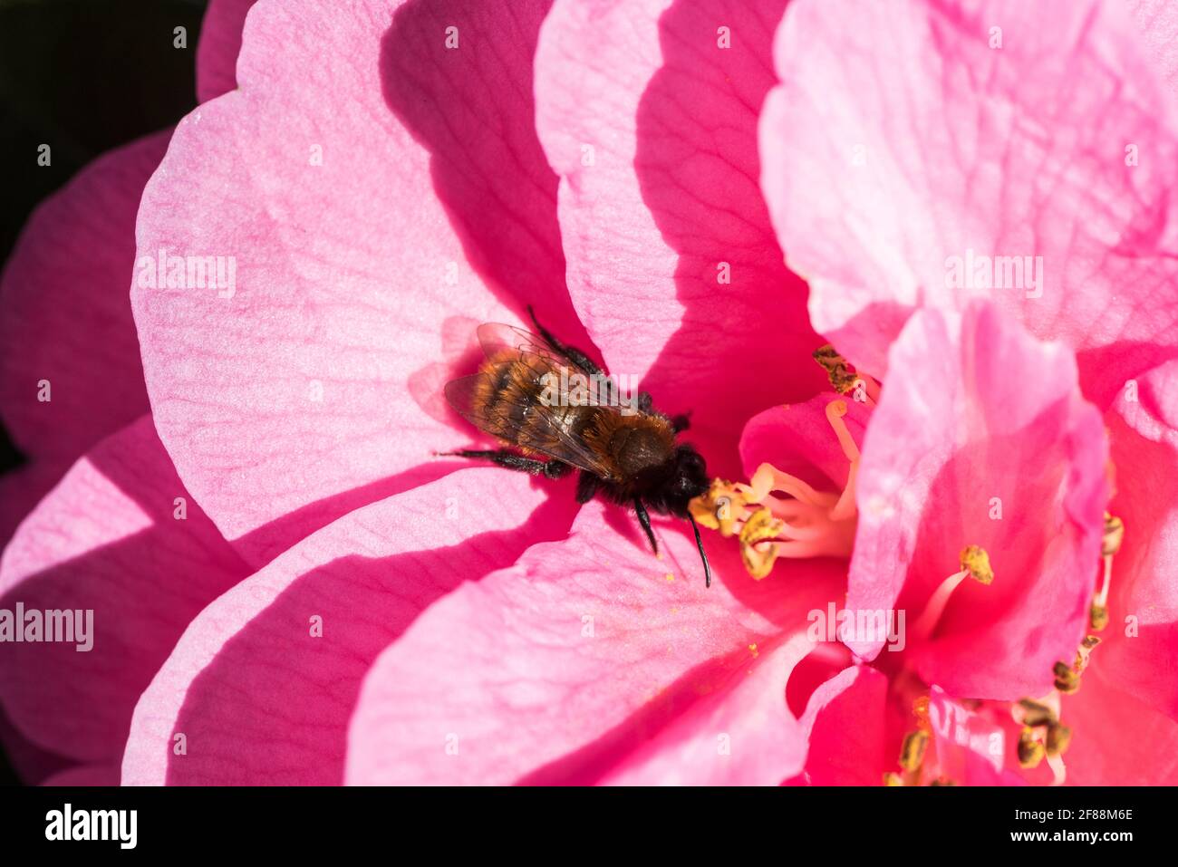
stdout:
<svg viewBox="0 0 1178 867">
<path fill-rule="evenodd" d="M 640 377 L 656 405 L 694 410 L 699 432 L 728 449 L 733 418 L 822 384 L 806 287 L 782 265 L 757 187 L 783 8 L 558 0 L 536 55 L 577 312 L 614 372 Z M 730 283 L 717 282 L 722 263 Z"/>
</svg>

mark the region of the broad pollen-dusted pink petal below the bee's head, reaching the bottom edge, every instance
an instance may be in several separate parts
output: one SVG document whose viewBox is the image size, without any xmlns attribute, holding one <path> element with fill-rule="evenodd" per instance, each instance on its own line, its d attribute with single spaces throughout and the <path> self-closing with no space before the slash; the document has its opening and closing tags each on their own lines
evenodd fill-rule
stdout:
<svg viewBox="0 0 1178 867">
<path fill-rule="evenodd" d="M 348 781 L 744 779 L 744 759 L 717 765 L 706 749 L 740 708 L 768 707 L 734 681 L 753 670 L 785 703 L 777 681 L 790 663 L 777 648 L 807 610 L 834 597 L 840 570 L 815 561 L 792 581 L 754 582 L 735 545 L 709 534 L 716 578 L 706 589 L 682 523 L 657 522 L 660 561 L 631 516 L 590 503 L 568 541 L 535 545 L 434 605 L 365 679 Z M 760 673 L 761 664 L 779 669 Z M 746 733 L 744 723 L 733 729 L 734 755 L 746 736 L 773 739 Z M 691 762 L 677 765 L 680 750 Z M 793 750 L 787 727 L 766 761 L 786 772 Z"/>
</svg>

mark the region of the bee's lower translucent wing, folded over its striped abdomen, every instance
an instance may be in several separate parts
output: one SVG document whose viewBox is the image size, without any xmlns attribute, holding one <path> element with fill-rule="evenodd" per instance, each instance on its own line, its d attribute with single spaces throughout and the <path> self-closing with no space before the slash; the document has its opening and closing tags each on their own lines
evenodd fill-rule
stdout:
<svg viewBox="0 0 1178 867">
<path fill-rule="evenodd" d="M 550 406 L 502 390 L 490 402 L 487 398 L 495 393 L 494 389 L 489 373 L 472 373 L 446 383 L 445 398 L 455 412 L 485 434 L 602 478 L 614 475 L 609 463 L 569 432 L 567 424 L 571 416 L 561 411 L 560 402 Z"/>
</svg>

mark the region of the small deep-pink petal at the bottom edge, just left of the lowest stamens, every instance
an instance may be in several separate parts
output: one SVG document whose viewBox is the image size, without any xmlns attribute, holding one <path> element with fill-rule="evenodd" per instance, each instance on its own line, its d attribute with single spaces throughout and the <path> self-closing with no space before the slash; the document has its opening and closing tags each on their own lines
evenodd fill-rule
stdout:
<svg viewBox="0 0 1178 867">
<path fill-rule="evenodd" d="M 891 767 L 886 754 L 887 676 L 852 666 L 810 695 L 802 715 L 812 786 L 879 786 Z"/>
</svg>

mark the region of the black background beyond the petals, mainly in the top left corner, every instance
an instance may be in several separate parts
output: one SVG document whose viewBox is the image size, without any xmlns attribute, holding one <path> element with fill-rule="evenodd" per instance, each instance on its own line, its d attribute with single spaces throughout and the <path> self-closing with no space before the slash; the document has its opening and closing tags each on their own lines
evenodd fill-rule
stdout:
<svg viewBox="0 0 1178 867">
<path fill-rule="evenodd" d="M 0 260 L 38 203 L 79 168 L 196 107 L 205 5 L 0 0 Z M 183 49 L 176 27 L 187 28 Z M 51 166 L 37 165 L 41 144 L 53 148 Z M 0 423 L 0 472 L 22 462 Z M 0 785 L 15 782 L 0 747 Z"/>
</svg>

